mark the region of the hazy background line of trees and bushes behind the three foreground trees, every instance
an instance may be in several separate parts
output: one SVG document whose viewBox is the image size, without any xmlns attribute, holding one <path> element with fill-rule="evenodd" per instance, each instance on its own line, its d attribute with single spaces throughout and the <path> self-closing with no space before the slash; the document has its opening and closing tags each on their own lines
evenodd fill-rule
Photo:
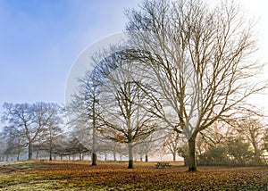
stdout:
<svg viewBox="0 0 268 191">
<path fill-rule="evenodd" d="M 81 123 L 83 128 L 79 128 L 73 126 L 71 122 L 73 129 L 71 133 L 67 133 L 62 124 L 63 109 L 57 104 L 4 104 L 4 109 L 5 114 L 2 120 L 7 120 L 10 126 L 4 127 L 1 133 L 2 160 L 4 156 L 5 160 L 8 160 L 9 156 L 11 159 L 15 156 L 16 160 L 20 160 L 23 154 L 28 154 L 28 159 L 31 159 L 33 153 L 36 154 L 36 159 L 39 156 L 40 158 L 48 157 L 49 160 L 53 157 L 54 159 L 60 157 L 62 160 L 65 156 L 70 160 L 70 156 L 73 156 L 72 159 L 83 160 L 92 154 L 92 165 L 96 165 L 96 154 L 102 156 L 103 160 L 113 158 L 114 161 L 128 156 L 128 145 L 122 141 L 123 137 L 118 137 L 116 141 L 111 138 L 107 139 L 103 136 L 102 130 L 98 129 L 95 132 L 96 145 L 93 149 L 93 141 L 90 139 L 93 136 L 90 123 L 88 126 Z M 31 122 L 27 118 L 29 114 L 32 116 Z M 35 118 L 38 120 L 34 120 Z M 30 134 L 28 135 L 27 132 Z M 33 137 L 29 138 L 29 136 Z M 29 141 L 31 141 L 30 147 Z M 205 165 L 264 164 L 264 152 L 268 150 L 267 143 L 268 130 L 264 126 L 263 118 L 247 112 L 232 124 L 216 122 L 206 132 L 201 133 L 197 137 L 197 162 Z M 136 154 L 136 160 L 139 157 L 142 161 L 145 157 L 148 161 L 149 155 L 156 156 L 157 154 L 158 157 L 163 157 L 165 154 L 172 154 L 175 162 L 179 154 L 188 164 L 188 145 L 185 145 L 185 139 L 177 132 L 163 137 L 163 131 L 155 129 L 154 133 L 138 142 L 133 151 Z"/>
</svg>

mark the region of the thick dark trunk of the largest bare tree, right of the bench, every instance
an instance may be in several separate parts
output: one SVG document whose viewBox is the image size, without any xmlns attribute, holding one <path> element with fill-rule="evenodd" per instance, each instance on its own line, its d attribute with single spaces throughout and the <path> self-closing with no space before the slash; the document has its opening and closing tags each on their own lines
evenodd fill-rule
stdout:
<svg viewBox="0 0 268 191">
<path fill-rule="evenodd" d="M 188 171 L 197 171 L 196 136 L 188 140 Z"/>
</svg>

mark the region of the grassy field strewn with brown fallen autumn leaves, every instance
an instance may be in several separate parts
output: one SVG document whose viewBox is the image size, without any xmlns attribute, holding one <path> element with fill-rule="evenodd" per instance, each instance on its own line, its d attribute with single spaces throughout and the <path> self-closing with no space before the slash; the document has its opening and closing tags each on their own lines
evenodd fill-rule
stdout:
<svg viewBox="0 0 268 191">
<path fill-rule="evenodd" d="M 268 167 L 199 167 L 180 163 L 155 169 L 155 162 L 0 163 L 0 190 L 268 190 Z"/>
</svg>

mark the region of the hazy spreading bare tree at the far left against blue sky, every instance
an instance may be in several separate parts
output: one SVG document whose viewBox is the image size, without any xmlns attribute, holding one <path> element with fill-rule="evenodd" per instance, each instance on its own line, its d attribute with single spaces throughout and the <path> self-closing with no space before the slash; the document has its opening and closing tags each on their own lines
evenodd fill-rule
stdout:
<svg viewBox="0 0 268 191">
<path fill-rule="evenodd" d="M 48 122 L 57 114 L 55 104 L 4 104 L 3 120 L 14 127 L 17 137 L 27 139 L 28 159 L 32 159 L 33 145 L 41 135 L 46 134 Z"/>
</svg>

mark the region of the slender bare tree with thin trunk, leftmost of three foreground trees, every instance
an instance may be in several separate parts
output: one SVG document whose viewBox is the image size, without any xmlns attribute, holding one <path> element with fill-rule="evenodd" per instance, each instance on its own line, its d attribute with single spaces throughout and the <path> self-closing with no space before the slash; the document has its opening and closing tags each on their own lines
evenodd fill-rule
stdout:
<svg viewBox="0 0 268 191">
<path fill-rule="evenodd" d="M 99 87 L 94 81 L 94 76 L 87 71 L 80 78 L 80 87 L 72 97 L 72 103 L 68 106 L 70 125 L 75 135 L 83 145 L 92 151 L 92 166 L 96 165 L 97 127 L 101 113 L 98 107 Z"/>
</svg>

